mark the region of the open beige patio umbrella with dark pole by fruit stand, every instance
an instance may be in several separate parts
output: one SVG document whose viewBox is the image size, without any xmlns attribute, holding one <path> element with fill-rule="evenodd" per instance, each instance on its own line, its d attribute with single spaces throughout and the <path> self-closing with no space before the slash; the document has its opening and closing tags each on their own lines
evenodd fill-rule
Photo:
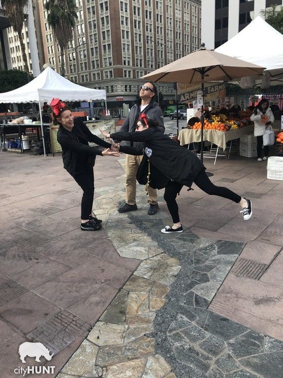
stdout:
<svg viewBox="0 0 283 378">
<path fill-rule="evenodd" d="M 202 43 L 201 48 L 194 53 L 158 68 L 142 78 L 154 82 L 201 83 L 203 99 L 204 82 L 206 81 L 228 82 L 244 76 L 262 75 L 264 69 L 265 67 L 253 63 L 228 57 L 213 50 L 206 50 Z M 203 115 L 203 100 L 201 115 Z M 201 161 L 203 161 L 203 123 L 204 119 L 201 116 Z"/>
</svg>

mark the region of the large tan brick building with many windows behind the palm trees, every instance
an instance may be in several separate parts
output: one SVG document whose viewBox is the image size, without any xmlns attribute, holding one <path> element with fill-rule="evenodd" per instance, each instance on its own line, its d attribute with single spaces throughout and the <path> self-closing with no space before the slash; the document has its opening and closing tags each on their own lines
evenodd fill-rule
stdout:
<svg viewBox="0 0 283 378">
<path fill-rule="evenodd" d="M 46 0 L 39 0 L 46 63 L 60 71 L 60 53 L 47 23 Z M 76 0 L 78 19 L 74 38 L 65 51 L 66 77 L 136 100 L 140 77 L 199 47 L 200 0 Z M 161 84 L 165 98 L 173 85 Z"/>
</svg>

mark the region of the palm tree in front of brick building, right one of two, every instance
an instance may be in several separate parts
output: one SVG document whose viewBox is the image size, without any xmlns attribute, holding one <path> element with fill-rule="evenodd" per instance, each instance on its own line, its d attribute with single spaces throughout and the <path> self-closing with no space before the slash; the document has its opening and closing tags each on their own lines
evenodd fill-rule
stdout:
<svg viewBox="0 0 283 378">
<path fill-rule="evenodd" d="M 77 6 L 75 0 L 48 0 L 44 5 L 48 12 L 47 22 L 53 29 L 61 51 L 61 75 L 65 76 L 64 49 L 73 38 Z"/>
</svg>

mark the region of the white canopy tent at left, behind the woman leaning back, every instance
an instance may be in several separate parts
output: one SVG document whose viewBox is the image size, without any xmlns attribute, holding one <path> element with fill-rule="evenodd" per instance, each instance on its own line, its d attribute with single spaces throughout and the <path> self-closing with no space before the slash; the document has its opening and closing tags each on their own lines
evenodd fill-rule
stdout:
<svg viewBox="0 0 283 378">
<path fill-rule="evenodd" d="M 45 101 L 50 103 L 52 98 L 60 98 L 62 101 L 104 100 L 106 105 L 105 90 L 86 88 L 72 83 L 55 72 L 51 67 L 45 68 L 41 74 L 23 87 L 10 92 L 0 93 L 0 103 L 37 102 L 39 104 L 44 156 L 46 154 L 41 103 Z"/>
</svg>

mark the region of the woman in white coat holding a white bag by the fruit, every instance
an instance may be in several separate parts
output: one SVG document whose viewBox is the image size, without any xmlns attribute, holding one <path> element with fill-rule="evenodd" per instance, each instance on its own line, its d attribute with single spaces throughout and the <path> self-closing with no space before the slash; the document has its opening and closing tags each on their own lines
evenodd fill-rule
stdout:
<svg viewBox="0 0 283 378">
<path fill-rule="evenodd" d="M 257 139 L 257 160 L 266 160 L 268 158 L 269 146 L 264 146 L 264 157 L 261 158 L 261 150 L 263 144 L 262 136 L 265 133 L 266 128 L 274 122 L 274 115 L 269 107 L 269 102 L 266 98 L 263 98 L 256 105 L 255 110 L 251 115 L 251 121 L 253 121 L 255 124 L 254 135 Z"/>
</svg>

